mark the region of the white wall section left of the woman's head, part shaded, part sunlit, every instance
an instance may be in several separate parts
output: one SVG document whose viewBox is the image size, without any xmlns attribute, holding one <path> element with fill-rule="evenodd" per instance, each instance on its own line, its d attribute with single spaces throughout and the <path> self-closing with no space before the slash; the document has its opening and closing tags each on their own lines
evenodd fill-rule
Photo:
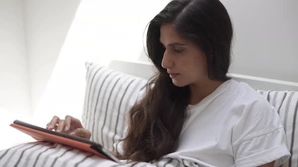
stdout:
<svg viewBox="0 0 298 167">
<path fill-rule="evenodd" d="M 168 0 L 24 3 L 33 123 L 44 126 L 53 115 L 81 117 L 84 62 L 137 60 L 147 23 Z"/>
</svg>

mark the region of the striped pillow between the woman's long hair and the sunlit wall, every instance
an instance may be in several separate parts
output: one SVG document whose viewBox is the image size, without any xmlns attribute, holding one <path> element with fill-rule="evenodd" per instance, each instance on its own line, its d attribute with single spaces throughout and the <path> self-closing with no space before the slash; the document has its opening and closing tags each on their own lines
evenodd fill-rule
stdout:
<svg viewBox="0 0 298 167">
<path fill-rule="evenodd" d="M 89 62 L 85 66 L 82 123 L 91 131 L 90 140 L 114 151 L 113 143 L 124 137 L 127 113 L 147 80 Z"/>
</svg>

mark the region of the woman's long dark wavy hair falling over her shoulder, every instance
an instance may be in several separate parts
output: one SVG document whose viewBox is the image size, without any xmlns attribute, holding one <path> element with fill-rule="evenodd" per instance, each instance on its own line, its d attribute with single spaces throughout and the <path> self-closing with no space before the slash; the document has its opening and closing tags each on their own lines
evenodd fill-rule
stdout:
<svg viewBox="0 0 298 167">
<path fill-rule="evenodd" d="M 219 0 L 171 1 L 149 24 L 147 52 L 158 73 L 147 84 L 145 97 L 129 111 L 129 126 L 123 139 L 121 159 L 153 162 L 174 152 L 187 118 L 188 86 L 173 85 L 162 67 L 165 49 L 160 43 L 160 27 L 171 23 L 178 33 L 200 47 L 207 58 L 208 75 L 228 80 L 233 37 L 229 15 Z"/>
</svg>

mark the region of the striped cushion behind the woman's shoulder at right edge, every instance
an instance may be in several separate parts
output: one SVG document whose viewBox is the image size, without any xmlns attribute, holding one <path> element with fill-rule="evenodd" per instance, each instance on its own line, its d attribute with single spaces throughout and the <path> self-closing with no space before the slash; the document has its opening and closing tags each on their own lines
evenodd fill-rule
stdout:
<svg viewBox="0 0 298 167">
<path fill-rule="evenodd" d="M 288 161 L 281 166 L 298 167 L 298 92 L 257 90 L 274 106 L 283 122 L 287 146 L 291 153 Z"/>
</svg>

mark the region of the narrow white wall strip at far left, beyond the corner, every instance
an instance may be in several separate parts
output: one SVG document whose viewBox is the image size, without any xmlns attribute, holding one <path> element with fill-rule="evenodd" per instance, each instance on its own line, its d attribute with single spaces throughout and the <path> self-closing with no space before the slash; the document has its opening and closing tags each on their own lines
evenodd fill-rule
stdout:
<svg viewBox="0 0 298 167">
<path fill-rule="evenodd" d="M 0 0 L 0 149 L 27 138 L 9 126 L 31 121 L 27 61 L 22 1 Z"/>
</svg>

